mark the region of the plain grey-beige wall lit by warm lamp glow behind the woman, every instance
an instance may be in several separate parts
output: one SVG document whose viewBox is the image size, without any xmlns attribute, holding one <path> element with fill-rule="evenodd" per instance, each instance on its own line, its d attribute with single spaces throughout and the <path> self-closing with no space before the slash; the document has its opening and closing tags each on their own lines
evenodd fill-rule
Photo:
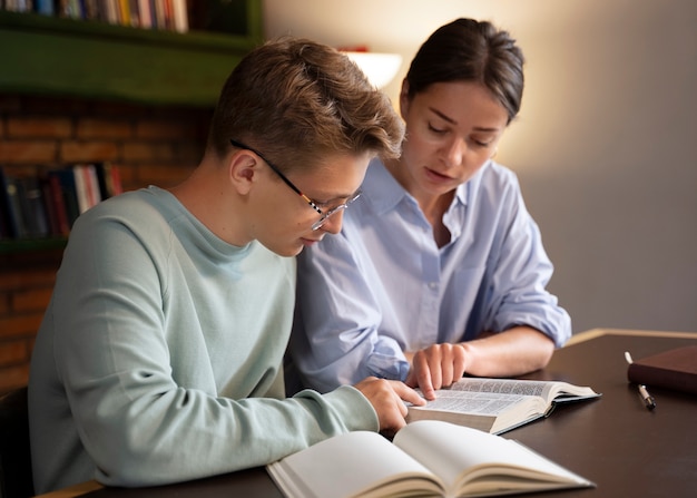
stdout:
<svg viewBox="0 0 697 498">
<path fill-rule="evenodd" d="M 423 39 L 462 16 L 526 52 L 497 159 L 520 177 L 575 332 L 697 331 L 697 2 L 265 0 L 267 36 L 402 53 L 393 101 Z"/>
</svg>

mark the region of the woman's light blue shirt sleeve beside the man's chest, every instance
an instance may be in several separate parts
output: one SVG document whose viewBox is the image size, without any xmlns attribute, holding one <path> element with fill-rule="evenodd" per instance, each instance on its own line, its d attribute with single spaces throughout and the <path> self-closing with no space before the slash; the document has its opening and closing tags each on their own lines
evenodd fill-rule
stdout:
<svg viewBox="0 0 697 498">
<path fill-rule="evenodd" d="M 403 344 L 379 333 L 381 285 L 367 276 L 370 264 L 359 261 L 344 232 L 298 256 L 289 351 L 305 385 L 326 392 L 369 375 L 406 379 Z"/>
</svg>

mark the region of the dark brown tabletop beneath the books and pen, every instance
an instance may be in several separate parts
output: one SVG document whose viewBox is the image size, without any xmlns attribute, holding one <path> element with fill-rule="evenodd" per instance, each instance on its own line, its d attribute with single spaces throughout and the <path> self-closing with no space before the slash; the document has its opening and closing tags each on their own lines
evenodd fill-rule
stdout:
<svg viewBox="0 0 697 498">
<path fill-rule="evenodd" d="M 697 334 L 593 332 L 599 333 L 587 334 L 592 339 L 558 350 L 544 370 L 526 378 L 590 385 L 602 397 L 560 406 L 549 418 L 503 437 L 521 441 L 592 480 L 597 487 L 538 495 L 546 498 L 696 497 L 697 397 L 649 387 L 657 408 L 647 410 L 637 387 L 627 381 L 625 351 L 639 359 L 697 344 Z M 263 468 L 158 488 L 104 488 L 82 496 L 282 497 Z"/>
</svg>

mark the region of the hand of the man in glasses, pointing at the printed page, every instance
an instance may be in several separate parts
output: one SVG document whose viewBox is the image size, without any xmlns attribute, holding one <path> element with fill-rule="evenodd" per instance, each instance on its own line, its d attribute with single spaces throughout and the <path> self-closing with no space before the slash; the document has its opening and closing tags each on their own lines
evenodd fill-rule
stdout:
<svg viewBox="0 0 697 498">
<path fill-rule="evenodd" d="M 408 408 L 404 401 L 425 404 L 416 391 L 400 381 L 369 377 L 354 387 L 371 402 L 377 413 L 380 431 L 386 434 L 395 433 L 406 424 L 404 418 Z"/>
</svg>

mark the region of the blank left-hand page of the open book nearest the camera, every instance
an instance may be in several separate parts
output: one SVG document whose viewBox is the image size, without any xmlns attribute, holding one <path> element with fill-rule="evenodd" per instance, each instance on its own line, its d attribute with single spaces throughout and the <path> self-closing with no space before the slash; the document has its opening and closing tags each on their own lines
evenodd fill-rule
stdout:
<svg viewBox="0 0 697 498">
<path fill-rule="evenodd" d="M 348 432 L 324 440 L 271 463 L 267 470 L 287 497 L 367 497 L 371 490 L 400 479 L 404 490 L 442 494 L 423 465 L 376 432 Z"/>
</svg>

